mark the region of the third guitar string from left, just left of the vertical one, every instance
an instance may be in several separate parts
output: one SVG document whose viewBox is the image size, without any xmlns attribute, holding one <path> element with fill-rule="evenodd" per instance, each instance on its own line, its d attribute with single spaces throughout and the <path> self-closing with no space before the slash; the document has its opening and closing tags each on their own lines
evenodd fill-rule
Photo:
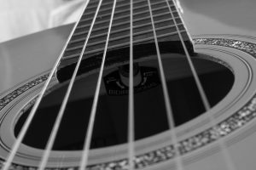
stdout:
<svg viewBox="0 0 256 170">
<path fill-rule="evenodd" d="M 99 77 L 98 77 L 97 84 L 96 84 L 96 92 L 95 92 L 95 95 L 94 95 L 93 104 L 92 104 L 92 108 L 91 108 L 91 111 L 90 111 L 89 126 L 87 128 L 87 133 L 86 133 L 86 137 L 85 137 L 84 150 L 83 150 L 83 153 L 82 153 L 82 159 L 81 159 L 81 164 L 80 164 L 80 168 L 79 168 L 80 170 L 83 170 L 83 168 L 85 170 L 85 168 L 87 166 L 87 162 L 88 162 L 91 136 L 92 136 L 93 126 L 94 126 L 95 117 L 96 117 L 96 107 L 97 107 L 99 94 L 100 94 L 100 88 L 101 88 L 101 83 L 102 83 L 102 75 L 103 75 L 107 50 L 108 50 L 108 42 L 109 42 L 111 27 L 112 27 L 112 24 L 113 24 L 113 14 L 114 14 L 115 8 L 116 8 L 116 1 L 117 0 L 114 0 L 114 2 L 113 2 L 113 9 L 112 9 L 111 19 L 110 19 L 109 27 L 108 27 L 108 37 L 107 37 L 107 40 L 106 40 L 106 44 L 105 44 L 105 48 L 104 48 L 104 54 L 103 54 L 103 57 L 102 57 L 102 65 L 101 65 L 101 69 L 100 69 L 100 72 L 99 72 Z"/>
</svg>

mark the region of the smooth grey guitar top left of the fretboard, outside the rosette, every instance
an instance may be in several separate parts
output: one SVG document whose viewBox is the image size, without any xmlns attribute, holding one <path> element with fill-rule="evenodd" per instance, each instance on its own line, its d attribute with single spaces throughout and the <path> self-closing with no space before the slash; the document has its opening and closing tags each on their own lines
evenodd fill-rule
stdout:
<svg viewBox="0 0 256 170">
<path fill-rule="evenodd" d="M 1 92 L 14 87 L 19 82 L 49 71 L 61 53 L 72 28 L 73 25 L 61 26 L 2 43 Z M 50 44 L 49 42 L 54 43 Z M 20 44 L 23 45 L 20 46 Z M 35 56 L 42 60 L 36 59 Z M 31 68 L 27 68 L 30 63 L 32 64 Z M 16 70 L 17 68 L 19 70 Z"/>
</svg>

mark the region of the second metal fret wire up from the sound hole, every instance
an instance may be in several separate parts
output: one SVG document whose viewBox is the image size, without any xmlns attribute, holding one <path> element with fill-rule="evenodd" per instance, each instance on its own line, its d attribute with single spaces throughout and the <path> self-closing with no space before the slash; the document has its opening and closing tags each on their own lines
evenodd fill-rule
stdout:
<svg viewBox="0 0 256 170">
<path fill-rule="evenodd" d="M 160 27 L 160 28 L 157 28 L 156 31 L 163 31 L 163 30 L 166 30 L 166 29 L 172 28 L 172 27 L 175 27 L 175 26 Z M 140 31 L 140 32 L 134 33 L 134 36 L 141 36 L 143 34 L 147 34 L 148 32 L 152 32 L 152 30 Z M 113 38 L 110 39 L 110 42 L 114 42 L 114 41 L 117 41 L 117 40 L 120 40 L 120 39 L 124 39 L 126 37 L 129 37 L 129 36 L 125 35 L 125 36 L 120 36 L 120 37 L 113 37 Z M 96 42 L 90 42 L 88 44 L 88 46 L 90 47 L 90 46 L 94 46 L 94 45 L 98 45 L 98 44 L 102 44 L 102 43 L 104 43 L 104 40 L 96 41 Z M 72 50 L 75 50 L 75 49 L 79 49 L 79 48 L 82 48 L 82 46 L 67 48 L 66 52 L 69 52 L 69 51 L 72 51 Z"/>
</svg>

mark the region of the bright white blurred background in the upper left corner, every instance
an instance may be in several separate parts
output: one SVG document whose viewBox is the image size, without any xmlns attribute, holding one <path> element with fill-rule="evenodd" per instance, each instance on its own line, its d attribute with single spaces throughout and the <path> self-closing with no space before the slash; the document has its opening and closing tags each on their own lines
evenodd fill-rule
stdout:
<svg viewBox="0 0 256 170">
<path fill-rule="evenodd" d="M 86 0 L 0 0 L 0 42 L 72 23 Z"/>
</svg>

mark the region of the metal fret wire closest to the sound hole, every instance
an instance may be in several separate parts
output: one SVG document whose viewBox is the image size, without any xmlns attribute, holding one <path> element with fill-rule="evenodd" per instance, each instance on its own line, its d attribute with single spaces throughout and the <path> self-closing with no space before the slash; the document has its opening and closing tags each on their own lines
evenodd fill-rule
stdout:
<svg viewBox="0 0 256 170">
<path fill-rule="evenodd" d="M 182 33 L 186 33 L 186 31 L 181 31 Z M 163 37 L 168 37 L 168 36 L 174 36 L 177 35 L 177 32 L 172 32 L 172 33 L 166 33 L 160 36 L 157 36 L 158 38 L 163 38 Z M 143 43 L 143 42 L 148 42 L 154 40 L 154 37 L 147 37 L 147 38 L 143 38 L 137 41 L 134 41 L 133 44 L 135 43 Z M 117 44 L 117 45 L 113 45 L 113 46 L 109 46 L 109 49 L 114 49 L 114 48 L 120 48 L 120 47 L 125 47 L 125 46 L 129 46 L 130 42 L 125 42 L 125 43 L 121 43 L 121 44 Z M 99 49 L 95 49 L 95 50 L 91 50 L 87 53 L 85 53 L 84 55 L 88 55 L 88 54 L 96 54 L 96 53 L 100 53 L 102 52 L 103 48 L 99 48 Z M 65 56 L 64 59 L 73 59 L 78 57 L 79 54 L 72 54 L 72 55 L 67 55 Z"/>
</svg>

